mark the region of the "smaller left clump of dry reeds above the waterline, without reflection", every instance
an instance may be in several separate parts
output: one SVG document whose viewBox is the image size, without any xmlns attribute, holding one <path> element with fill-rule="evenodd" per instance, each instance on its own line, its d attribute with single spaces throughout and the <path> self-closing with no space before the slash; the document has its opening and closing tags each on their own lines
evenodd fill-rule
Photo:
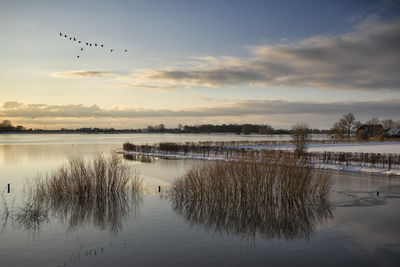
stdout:
<svg viewBox="0 0 400 267">
<path fill-rule="evenodd" d="M 123 195 L 130 187 L 138 188 L 141 180 L 132 175 L 122 158 L 113 153 L 109 157 L 97 155 L 91 160 L 71 158 L 44 179 L 37 178 L 31 193 L 38 199 L 64 200 L 70 198 L 102 199 Z"/>
</svg>

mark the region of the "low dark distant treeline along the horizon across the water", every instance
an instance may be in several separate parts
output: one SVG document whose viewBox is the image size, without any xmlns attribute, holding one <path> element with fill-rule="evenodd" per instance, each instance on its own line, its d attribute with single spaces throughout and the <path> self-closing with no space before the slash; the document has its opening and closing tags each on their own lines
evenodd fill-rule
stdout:
<svg viewBox="0 0 400 267">
<path fill-rule="evenodd" d="M 11 121 L 4 120 L 0 123 L 0 133 L 236 133 L 236 134 L 290 134 L 288 129 L 274 129 L 267 124 L 202 124 L 179 125 L 177 128 L 166 128 L 164 124 L 148 126 L 146 129 L 114 129 L 114 128 L 78 128 L 57 130 L 32 129 L 24 126 L 14 126 Z M 310 134 L 328 134 L 329 130 L 309 129 Z"/>
</svg>

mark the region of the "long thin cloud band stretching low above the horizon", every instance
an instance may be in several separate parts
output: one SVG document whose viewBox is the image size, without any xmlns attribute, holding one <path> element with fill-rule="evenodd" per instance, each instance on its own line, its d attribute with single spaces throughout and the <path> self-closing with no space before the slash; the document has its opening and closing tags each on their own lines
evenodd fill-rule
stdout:
<svg viewBox="0 0 400 267">
<path fill-rule="evenodd" d="M 399 117 L 400 100 L 364 102 L 289 102 L 283 100 L 243 100 L 214 107 L 186 109 L 100 108 L 82 104 L 48 105 L 5 102 L 0 117 L 25 118 L 179 118 L 299 114 L 332 115 L 354 112 L 370 116 Z"/>
</svg>

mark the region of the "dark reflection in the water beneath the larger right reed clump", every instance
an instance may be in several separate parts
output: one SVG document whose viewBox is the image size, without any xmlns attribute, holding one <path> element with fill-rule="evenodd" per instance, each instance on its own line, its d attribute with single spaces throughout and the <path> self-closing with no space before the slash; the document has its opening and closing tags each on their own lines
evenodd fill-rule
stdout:
<svg viewBox="0 0 400 267">
<path fill-rule="evenodd" d="M 327 202 L 310 205 L 300 199 L 274 202 L 181 201 L 173 199 L 173 209 L 191 224 L 243 238 L 310 239 L 318 224 L 333 219 Z"/>
</svg>

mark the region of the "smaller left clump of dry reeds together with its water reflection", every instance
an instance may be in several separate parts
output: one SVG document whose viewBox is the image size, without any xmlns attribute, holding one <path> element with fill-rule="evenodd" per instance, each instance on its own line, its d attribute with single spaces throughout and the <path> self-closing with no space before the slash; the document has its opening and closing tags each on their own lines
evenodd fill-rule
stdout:
<svg viewBox="0 0 400 267">
<path fill-rule="evenodd" d="M 67 222 L 70 229 L 92 223 L 117 234 L 124 220 L 136 212 L 142 197 L 142 181 L 122 157 L 112 153 L 90 160 L 71 158 L 54 172 L 37 177 L 29 185 L 28 193 L 26 212 L 21 210 L 21 218 L 28 222 L 35 222 L 29 214 L 40 203 L 40 210 Z"/>
</svg>

